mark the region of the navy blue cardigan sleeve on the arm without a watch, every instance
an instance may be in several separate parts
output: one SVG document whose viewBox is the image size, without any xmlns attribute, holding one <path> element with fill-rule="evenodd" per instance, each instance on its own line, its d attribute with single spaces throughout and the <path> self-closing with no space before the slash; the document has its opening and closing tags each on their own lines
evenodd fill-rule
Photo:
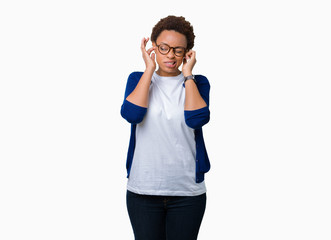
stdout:
<svg viewBox="0 0 331 240">
<path fill-rule="evenodd" d="M 129 75 L 125 88 L 124 101 L 121 107 L 121 116 L 132 124 L 140 123 L 147 112 L 147 108 L 135 105 L 126 100 L 136 88 L 142 74 L 142 72 L 133 72 Z"/>
</svg>

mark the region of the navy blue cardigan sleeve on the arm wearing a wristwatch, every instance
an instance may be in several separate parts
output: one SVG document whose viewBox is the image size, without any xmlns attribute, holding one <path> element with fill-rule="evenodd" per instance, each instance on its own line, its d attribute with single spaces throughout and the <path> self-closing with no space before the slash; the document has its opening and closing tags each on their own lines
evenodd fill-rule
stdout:
<svg viewBox="0 0 331 240">
<path fill-rule="evenodd" d="M 202 128 L 203 125 L 209 122 L 210 111 L 209 111 L 209 92 L 210 84 L 208 79 L 203 75 L 196 75 L 197 87 L 203 100 L 207 106 L 196 109 L 196 110 L 185 110 L 185 122 L 186 125 L 193 129 Z"/>
</svg>

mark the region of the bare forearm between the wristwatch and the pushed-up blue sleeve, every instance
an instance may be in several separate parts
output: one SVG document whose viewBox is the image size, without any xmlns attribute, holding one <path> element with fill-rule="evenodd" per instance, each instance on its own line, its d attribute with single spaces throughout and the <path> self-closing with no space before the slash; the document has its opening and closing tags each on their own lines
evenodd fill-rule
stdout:
<svg viewBox="0 0 331 240">
<path fill-rule="evenodd" d="M 196 110 L 206 107 L 207 104 L 201 97 L 197 85 L 190 79 L 185 82 L 185 105 L 184 110 Z"/>
</svg>

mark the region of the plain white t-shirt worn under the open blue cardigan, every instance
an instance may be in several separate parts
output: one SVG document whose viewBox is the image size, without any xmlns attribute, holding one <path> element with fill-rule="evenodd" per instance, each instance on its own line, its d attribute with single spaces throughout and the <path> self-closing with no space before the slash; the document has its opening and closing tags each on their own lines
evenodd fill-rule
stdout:
<svg viewBox="0 0 331 240">
<path fill-rule="evenodd" d="M 184 76 L 154 72 L 144 120 L 136 126 L 136 145 L 127 189 L 138 194 L 196 196 L 194 130 L 184 119 Z"/>
</svg>

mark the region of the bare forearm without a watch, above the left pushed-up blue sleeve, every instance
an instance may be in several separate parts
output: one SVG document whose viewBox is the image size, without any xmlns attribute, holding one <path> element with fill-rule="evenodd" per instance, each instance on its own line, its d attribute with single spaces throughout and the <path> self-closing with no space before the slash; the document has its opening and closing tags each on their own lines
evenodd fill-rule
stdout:
<svg viewBox="0 0 331 240">
<path fill-rule="evenodd" d="M 140 107 L 147 108 L 149 98 L 149 86 L 153 76 L 153 69 L 146 69 L 144 74 L 141 76 L 136 88 L 126 98 L 127 101 L 138 105 Z"/>
</svg>

